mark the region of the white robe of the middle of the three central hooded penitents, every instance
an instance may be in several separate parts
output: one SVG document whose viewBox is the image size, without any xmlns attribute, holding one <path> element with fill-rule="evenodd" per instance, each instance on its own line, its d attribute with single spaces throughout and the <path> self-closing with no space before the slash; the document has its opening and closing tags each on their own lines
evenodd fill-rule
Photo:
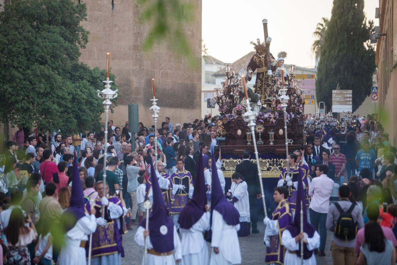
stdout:
<svg viewBox="0 0 397 265">
<path fill-rule="evenodd" d="M 210 230 L 211 213 L 204 213 L 190 229 L 179 228 L 181 233 L 181 265 L 207 265 L 208 247 L 203 232 Z"/>
</svg>

